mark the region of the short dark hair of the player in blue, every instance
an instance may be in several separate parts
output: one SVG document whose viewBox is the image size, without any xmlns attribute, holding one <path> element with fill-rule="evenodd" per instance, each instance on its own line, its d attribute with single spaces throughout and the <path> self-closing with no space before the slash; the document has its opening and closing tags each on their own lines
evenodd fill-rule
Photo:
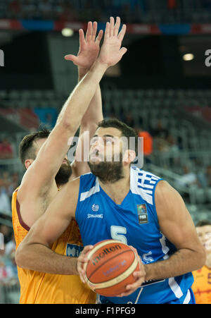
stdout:
<svg viewBox="0 0 211 318">
<path fill-rule="evenodd" d="M 135 138 L 135 152 L 136 156 L 138 154 L 138 135 L 136 133 L 136 130 L 134 128 L 129 127 L 126 125 L 126 123 L 123 123 L 122 121 L 119 121 L 117 118 L 109 118 L 109 119 L 103 119 L 103 121 L 100 121 L 98 123 L 98 128 L 117 128 L 121 131 L 123 137 L 127 137 L 128 145 L 129 145 L 129 137 Z M 97 128 L 97 129 L 98 129 Z"/>
</svg>

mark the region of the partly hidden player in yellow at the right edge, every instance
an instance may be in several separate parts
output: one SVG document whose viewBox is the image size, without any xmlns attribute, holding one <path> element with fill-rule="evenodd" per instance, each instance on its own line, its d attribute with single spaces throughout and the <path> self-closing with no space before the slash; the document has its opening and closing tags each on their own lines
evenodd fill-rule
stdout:
<svg viewBox="0 0 211 318">
<path fill-rule="evenodd" d="M 211 222 L 199 221 L 196 224 L 198 238 L 204 245 L 207 259 L 205 266 L 193 271 L 194 283 L 192 286 L 196 304 L 211 304 Z"/>
</svg>

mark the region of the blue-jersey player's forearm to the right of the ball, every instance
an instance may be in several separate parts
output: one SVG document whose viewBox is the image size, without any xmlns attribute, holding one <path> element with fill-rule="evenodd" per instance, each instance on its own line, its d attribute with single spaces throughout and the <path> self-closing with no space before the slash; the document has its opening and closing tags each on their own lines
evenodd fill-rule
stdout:
<svg viewBox="0 0 211 318">
<path fill-rule="evenodd" d="M 156 279 L 167 279 L 174 276 L 186 274 L 190 271 L 200 269 L 205 262 L 204 252 L 181 249 L 175 252 L 169 259 L 145 264 L 146 281 Z"/>
</svg>

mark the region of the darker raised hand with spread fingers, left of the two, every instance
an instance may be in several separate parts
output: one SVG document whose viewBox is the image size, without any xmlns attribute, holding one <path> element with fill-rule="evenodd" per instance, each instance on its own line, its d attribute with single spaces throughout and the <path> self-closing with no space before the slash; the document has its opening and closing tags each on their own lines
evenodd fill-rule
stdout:
<svg viewBox="0 0 211 318">
<path fill-rule="evenodd" d="M 103 30 L 97 32 L 97 23 L 88 23 L 86 37 L 84 37 L 84 31 L 79 30 L 79 52 L 77 56 L 68 54 L 65 56 L 66 60 L 72 61 L 80 68 L 89 70 L 98 57 L 100 51 L 100 42 L 103 37 Z"/>
</svg>

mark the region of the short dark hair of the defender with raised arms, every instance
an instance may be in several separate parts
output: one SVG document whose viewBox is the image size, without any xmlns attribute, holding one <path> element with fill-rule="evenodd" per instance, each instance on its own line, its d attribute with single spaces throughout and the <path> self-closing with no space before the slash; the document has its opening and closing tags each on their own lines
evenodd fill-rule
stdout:
<svg viewBox="0 0 211 318">
<path fill-rule="evenodd" d="M 36 159 L 36 148 L 34 147 L 34 141 L 47 138 L 49 137 L 50 133 L 51 130 L 42 128 L 37 132 L 30 133 L 29 135 L 23 137 L 23 140 L 19 145 L 19 157 L 24 167 L 26 159 Z"/>
</svg>

